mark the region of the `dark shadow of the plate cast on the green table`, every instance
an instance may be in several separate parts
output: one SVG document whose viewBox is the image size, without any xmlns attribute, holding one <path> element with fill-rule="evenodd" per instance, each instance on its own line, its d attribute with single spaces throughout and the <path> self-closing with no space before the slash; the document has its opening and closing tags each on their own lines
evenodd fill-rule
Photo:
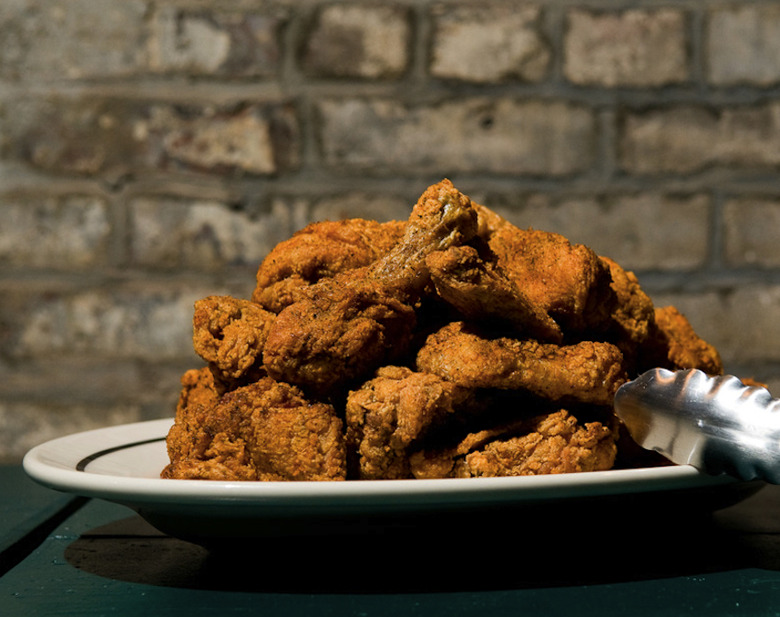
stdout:
<svg viewBox="0 0 780 617">
<path fill-rule="evenodd" d="M 83 571 L 127 582 L 285 593 L 525 589 L 780 570 L 780 530 L 746 529 L 741 507 L 721 515 L 670 504 L 667 494 L 459 508 L 334 519 L 287 532 L 272 525 L 266 537 L 208 546 L 133 516 L 83 534 L 65 557 Z"/>
</svg>

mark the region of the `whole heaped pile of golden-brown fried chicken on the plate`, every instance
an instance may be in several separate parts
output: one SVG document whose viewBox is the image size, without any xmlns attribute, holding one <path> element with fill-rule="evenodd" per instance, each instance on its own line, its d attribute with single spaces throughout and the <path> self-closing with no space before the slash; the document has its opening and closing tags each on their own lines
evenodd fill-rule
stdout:
<svg viewBox="0 0 780 617">
<path fill-rule="evenodd" d="M 195 305 L 164 478 L 472 478 L 666 464 L 614 414 L 653 367 L 718 352 L 633 273 L 450 181 L 408 221 L 313 223 L 251 299 Z"/>
</svg>

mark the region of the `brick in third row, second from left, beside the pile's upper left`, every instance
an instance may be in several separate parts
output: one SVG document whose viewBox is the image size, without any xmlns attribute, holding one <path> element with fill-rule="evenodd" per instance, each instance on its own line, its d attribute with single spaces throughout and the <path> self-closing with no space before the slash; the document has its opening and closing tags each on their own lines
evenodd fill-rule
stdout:
<svg viewBox="0 0 780 617">
<path fill-rule="evenodd" d="M 254 269 L 292 234 L 301 208 L 276 200 L 250 215 L 217 201 L 137 198 L 130 203 L 131 259 L 154 268 Z"/>
</svg>

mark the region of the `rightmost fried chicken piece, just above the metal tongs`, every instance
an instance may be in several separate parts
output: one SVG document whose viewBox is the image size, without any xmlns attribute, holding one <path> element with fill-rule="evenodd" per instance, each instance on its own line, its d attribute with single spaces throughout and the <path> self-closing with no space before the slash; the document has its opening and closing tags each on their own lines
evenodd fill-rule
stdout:
<svg viewBox="0 0 780 617">
<path fill-rule="evenodd" d="M 723 374 L 718 350 L 699 337 L 685 315 L 674 306 L 655 310 L 650 335 L 640 354 L 642 370 L 696 368 L 709 375 Z"/>
</svg>

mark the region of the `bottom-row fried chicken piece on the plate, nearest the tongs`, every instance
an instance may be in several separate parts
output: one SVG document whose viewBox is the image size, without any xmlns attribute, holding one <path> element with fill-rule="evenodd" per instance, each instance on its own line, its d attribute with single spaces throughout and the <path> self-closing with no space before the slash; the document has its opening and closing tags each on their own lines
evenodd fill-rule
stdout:
<svg viewBox="0 0 780 617">
<path fill-rule="evenodd" d="M 617 431 L 601 422 L 580 424 L 565 409 L 472 433 L 453 448 L 410 457 L 418 479 L 531 476 L 611 469 Z"/>
</svg>

